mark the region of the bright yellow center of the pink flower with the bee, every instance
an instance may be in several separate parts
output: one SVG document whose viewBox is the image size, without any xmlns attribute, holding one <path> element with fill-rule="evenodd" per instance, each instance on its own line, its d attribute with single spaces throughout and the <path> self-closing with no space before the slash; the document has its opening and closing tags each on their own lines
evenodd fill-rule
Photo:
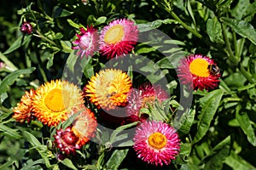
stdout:
<svg viewBox="0 0 256 170">
<path fill-rule="evenodd" d="M 198 77 L 209 77 L 209 63 L 206 59 L 194 59 L 189 65 L 189 71 Z"/>
</svg>

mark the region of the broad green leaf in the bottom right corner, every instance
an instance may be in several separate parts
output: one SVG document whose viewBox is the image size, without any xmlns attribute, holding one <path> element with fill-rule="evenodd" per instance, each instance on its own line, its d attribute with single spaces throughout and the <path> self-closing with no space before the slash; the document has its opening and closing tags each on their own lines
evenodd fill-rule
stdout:
<svg viewBox="0 0 256 170">
<path fill-rule="evenodd" d="M 242 159 L 241 156 L 237 156 L 234 151 L 231 151 L 230 156 L 224 162 L 232 167 L 233 170 L 256 170 L 256 167 L 253 167 L 252 164 Z"/>
</svg>

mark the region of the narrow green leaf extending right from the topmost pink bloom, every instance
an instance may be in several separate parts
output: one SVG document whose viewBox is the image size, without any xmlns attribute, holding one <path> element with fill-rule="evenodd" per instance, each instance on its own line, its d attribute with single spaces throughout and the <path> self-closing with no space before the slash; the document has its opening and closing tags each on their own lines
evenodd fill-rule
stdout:
<svg viewBox="0 0 256 170">
<path fill-rule="evenodd" d="M 138 24 L 137 28 L 140 32 L 150 31 L 160 27 L 162 24 L 177 23 L 177 20 L 166 19 L 166 20 L 154 20 L 153 22 L 148 22 L 147 24 Z"/>
</svg>

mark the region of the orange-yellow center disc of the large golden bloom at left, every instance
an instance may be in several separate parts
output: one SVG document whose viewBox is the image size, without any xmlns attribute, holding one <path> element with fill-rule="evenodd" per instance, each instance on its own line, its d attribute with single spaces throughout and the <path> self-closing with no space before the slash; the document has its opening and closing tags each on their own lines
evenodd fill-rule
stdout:
<svg viewBox="0 0 256 170">
<path fill-rule="evenodd" d="M 44 104 L 51 111 L 64 111 L 69 106 L 69 93 L 67 90 L 55 88 L 47 94 Z"/>
</svg>

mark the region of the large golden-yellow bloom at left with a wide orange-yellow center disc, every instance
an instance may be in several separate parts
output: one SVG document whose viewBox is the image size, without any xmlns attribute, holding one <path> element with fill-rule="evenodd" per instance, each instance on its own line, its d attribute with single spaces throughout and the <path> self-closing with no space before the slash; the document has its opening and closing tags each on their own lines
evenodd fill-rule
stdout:
<svg viewBox="0 0 256 170">
<path fill-rule="evenodd" d="M 73 83 L 67 81 L 45 82 L 37 90 L 32 100 L 34 116 L 48 126 L 56 126 L 66 121 L 74 108 L 84 105 L 83 93 Z"/>
</svg>

